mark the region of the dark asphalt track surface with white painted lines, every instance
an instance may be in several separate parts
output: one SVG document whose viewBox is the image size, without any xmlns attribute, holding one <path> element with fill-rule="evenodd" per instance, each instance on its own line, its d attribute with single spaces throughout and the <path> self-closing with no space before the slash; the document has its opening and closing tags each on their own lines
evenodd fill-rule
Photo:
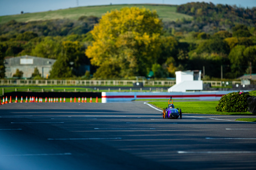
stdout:
<svg viewBox="0 0 256 170">
<path fill-rule="evenodd" d="M 0 170 L 254 170 L 256 123 L 242 117 L 164 120 L 143 101 L 0 105 Z"/>
</svg>

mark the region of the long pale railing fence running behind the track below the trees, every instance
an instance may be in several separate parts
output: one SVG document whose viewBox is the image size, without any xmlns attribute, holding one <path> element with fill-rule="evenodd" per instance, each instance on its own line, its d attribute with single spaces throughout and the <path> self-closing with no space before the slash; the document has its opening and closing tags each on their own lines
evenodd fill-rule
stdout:
<svg viewBox="0 0 256 170">
<path fill-rule="evenodd" d="M 0 85 L 83 85 L 83 86 L 133 86 L 134 83 L 143 83 L 144 86 L 166 86 L 176 84 L 175 80 L 23 80 L 1 79 Z M 203 81 L 211 86 L 224 86 L 225 81 Z M 229 81 L 228 85 L 241 84 L 240 81 Z"/>
</svg>

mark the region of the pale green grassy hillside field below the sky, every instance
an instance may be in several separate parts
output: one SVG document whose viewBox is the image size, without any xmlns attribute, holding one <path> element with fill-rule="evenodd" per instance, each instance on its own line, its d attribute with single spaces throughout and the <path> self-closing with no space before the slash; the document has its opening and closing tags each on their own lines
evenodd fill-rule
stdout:
<svg viewBox="0 0 256 170">
<path fill-rule="evenodd" d="M 192 16 L 180 14 L 176 12 L 176 5 L 150 5 L 150 4 L 137 4 L 137 5 L 102 5 L 102 6 L 83 6 L 77 8 L 68 8 L 63 10 L 53 10 L 45 12 L 36 12 L 36 13 L 26 13 L 19 15 L 5 15 L 0 16 L 0 24 L 6 23 L 10 20 L 16 20 L 19 22 L 29 22 L 35 20 L 52 20 L 52 19 L 72 19 L 77 20 L 80 16 L 90 16 L 94 15 L 101 17 L 107 11 L 113 9 L 120 10 L 123 7 L 145 7 L 150 10 L 156 10 L 157 14 L 163 21 L 175 21 L 176 19 L 181 18 L 192 18 Z"/>
</svg>

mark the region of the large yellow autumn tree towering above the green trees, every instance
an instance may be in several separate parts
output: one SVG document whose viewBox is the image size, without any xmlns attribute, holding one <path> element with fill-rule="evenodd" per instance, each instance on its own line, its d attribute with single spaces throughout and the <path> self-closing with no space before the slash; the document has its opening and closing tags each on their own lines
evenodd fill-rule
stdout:
<svg viewBox="0 0 256 170">
<path fill-rule="evenodd" d="M 160 57 L 162 29 L 156 11 L 146 8 L 126 7 L 102 15 L 91 31 L 94 42 L 85 50 L 91 64 L 99 66 L 94 76 L 112 78 L 113 71 L 113 77 L 146 75 Z"/>
</svg>

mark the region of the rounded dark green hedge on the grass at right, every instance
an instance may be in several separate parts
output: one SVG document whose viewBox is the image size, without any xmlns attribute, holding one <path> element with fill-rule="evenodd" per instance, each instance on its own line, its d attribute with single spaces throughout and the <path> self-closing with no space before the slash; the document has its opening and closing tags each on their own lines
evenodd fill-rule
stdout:
<svg viewBox="0 0 256 170">
<path fill-rule="evenodd" d="M 247 98 L 249 93 L 232 92 L 224 95 L 219 100 L 216 110 L 220 112 L 246 112 L 248 109 Z"/>
</svg>

